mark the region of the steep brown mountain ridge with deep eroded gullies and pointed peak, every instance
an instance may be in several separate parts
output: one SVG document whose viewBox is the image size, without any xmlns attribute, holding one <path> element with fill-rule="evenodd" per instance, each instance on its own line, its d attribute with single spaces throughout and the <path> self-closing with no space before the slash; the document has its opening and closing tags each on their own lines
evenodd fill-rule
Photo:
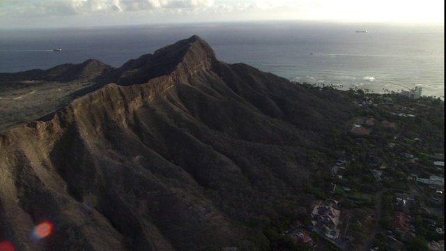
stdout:
<svg viewBox="0 0 446 251">
<path fill-rule="evenodd" d="M 217 61 L 198 36 L 89 64 L 70 76 L 102 87 L 0 135 L 0 242 L 16 250 L 238 245 L 247 222 L 305 206 L 307 152 L 349 110 L 339 93 Z M 30 238 L 45 221 L 52 234 Z"/>
</svg>

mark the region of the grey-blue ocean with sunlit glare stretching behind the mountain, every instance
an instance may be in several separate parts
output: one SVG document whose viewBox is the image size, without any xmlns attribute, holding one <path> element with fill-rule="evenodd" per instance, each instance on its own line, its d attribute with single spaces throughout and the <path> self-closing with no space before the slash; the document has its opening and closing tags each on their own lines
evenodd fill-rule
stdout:
<svg viewBox="0 0 446 251">
<path fill-rule="evenodd" d="M 247 63 L 297 82 L 374 93 L 420 86 L 423 96 L 445 96 L 444 24 L 227 22 L 0 30 L 0 73 L 91 58 L 119 67 L 194 34 L 220 61 Z"/>
</svg>

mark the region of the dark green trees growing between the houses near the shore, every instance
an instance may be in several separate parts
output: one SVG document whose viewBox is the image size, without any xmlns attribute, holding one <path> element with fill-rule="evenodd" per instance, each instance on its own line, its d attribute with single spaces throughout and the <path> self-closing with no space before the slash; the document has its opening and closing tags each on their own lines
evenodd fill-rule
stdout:
<svg viewBox="0 0 446 251">
<path fill-rule="evenodd" d="M 329 91 L 318 85 L 301 85 L 309 90 Z M 444 238 L 435 231 L 438 228 L 444 229 L 444 225 L 438 224 L 434 227 L 422 219 L 442 222 L 444 218 L 438 214 L 426 213 L 422 209 L 431 207 L 444 211 L 444 201 L 441 199 L 443 195 L 436 192 L 438 189 L 444 192 L 444 187 L 433 189 L 431 185 L 417 182 L 415 176 L 427 179 L 432 175 L 443 177 L 443 167 L 435 166 L 433 162 L 436 159 L 431 156 L 434 153 L 444 153 L 444 102 L 431 97 L 411 100 L 394 93 L 378 95 L 353 88 L 349 93 L 357 104 L 357 109 L 352 112 L 346 131 L 332 131 L 328 134 L 332 147 L 325 149 L 325 152 L 330 153 L 342 151 L 340 158 L 349 160 L 345 165 L 346 169 L 337 174 L 341 177 L 330 174 L 336 157 L 327 155 L 326 159 L 330 159 L 332 163 L 310 176 L 305 192 L 319 199 L 337 199 L 341 201 L 344 210 L 378 210 L 380 201 L 383 216 L 377 219 L 376 224 L 394 233 L 392 235 L 395 238 L 406 243 L 408 250 L 426 250 L 426 241 Z M 368 119 L 375 119 L 375 124 L 365 123 Z M 362 127 L 370 128 L 370 135 L 348 134 L 353 123 L 357 123 L 355 121 L 361 121 Z M 387 127 L 383 121 L 390 121 L 395 126 Z M 370 156 L 378 157 L 379 164 L 371 165 Z M 380 172 L 379 180 L 371 174 L 371 169 Z M 337 187 L 333 192 L 328 192 L 328 187 L 332 184 Z M 423 196 L 420 197 L 413 187 L 420 190 Z M 378 192 L 380 196 L 377 196 Z M 404 204 L 402 201 L 398 203 L 396 193 L 407 194 L 414 200 L 404 201 Z M 408 206 L 405 206 L 406 204 Z M 404 231 L 395 229 L 392 223 L 394 213 L 402 211 L 413 218 L 411 222 L 415 225 L 414 233 L 417 238 L 406 240 L 402 237 Z M 348 230 L 354 235 L 355 245 L 362 245 L 369 238 L 369 230 L 362 227 L 362 222 L 351 223 Z M 378 233 L 374 239 L 375 246 L 383 250 L 385 235 Z"/>
</svg>

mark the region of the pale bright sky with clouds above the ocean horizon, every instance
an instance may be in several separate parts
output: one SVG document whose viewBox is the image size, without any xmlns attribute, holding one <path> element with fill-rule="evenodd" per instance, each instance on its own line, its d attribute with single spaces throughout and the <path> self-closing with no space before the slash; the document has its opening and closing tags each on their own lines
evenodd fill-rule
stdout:
<svg viewBox="0 0 446 251">
<path fill-rule="evenodd" d="M 0 0 L 0 29 L 268 20 L 443 23 L 444 0 Z"/>
</svg>

